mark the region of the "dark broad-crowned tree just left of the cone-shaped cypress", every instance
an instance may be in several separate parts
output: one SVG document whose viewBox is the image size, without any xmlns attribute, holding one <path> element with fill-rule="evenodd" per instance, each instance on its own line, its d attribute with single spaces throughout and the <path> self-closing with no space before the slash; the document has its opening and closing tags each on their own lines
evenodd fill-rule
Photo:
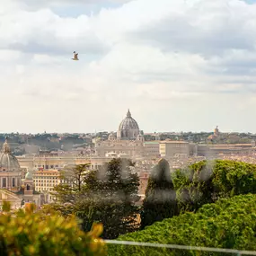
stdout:
<svg viewBox="0 0 256 256">
<path fill-rule="evenodd" d="M 84 172 L 80 190 L 74 190 L 77 184 L 72 187 L 68 182 L 57 186 L 55 191 L 60 200 L 51 207 L 64 216 L 78 216 L 84 231 L 90 230 L 93 222 L 101 222 L 103 238 L 135 231 L 139 180 L 132 171 L 133 165 L 126 159 L 113 159 L 99 171 Z"/>
</svg>

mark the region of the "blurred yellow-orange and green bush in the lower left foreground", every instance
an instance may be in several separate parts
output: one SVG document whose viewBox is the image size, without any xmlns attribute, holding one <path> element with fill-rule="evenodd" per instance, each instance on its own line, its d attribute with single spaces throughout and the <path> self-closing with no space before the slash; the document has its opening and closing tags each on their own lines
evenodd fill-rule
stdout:
<svg viewBox="0 0 256 256">
<path fill-rule="evenodd" d="M 3 256 L 76 256 L 106 255 L 105 245 L 99 235 L 102 225 L 93 225 L 90 233 L 81 231 L 75 216 L 50 212 L 33 213 L 32 204 L 14 215 L 10 204 L 4 203 L 0 215 L 0 252 Z"/>
</svg>

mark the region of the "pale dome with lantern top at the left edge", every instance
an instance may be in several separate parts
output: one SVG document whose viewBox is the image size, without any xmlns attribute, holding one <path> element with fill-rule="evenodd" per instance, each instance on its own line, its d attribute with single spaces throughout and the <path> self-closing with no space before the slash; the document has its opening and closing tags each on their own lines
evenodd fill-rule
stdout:
<svg viewBox="0 0 256 256">
<path fill-rule="evenodd" d="M 2 152 L 0 154 L 0 171 L 4 172 L 19 172 L 20 163 L 17 158 L 11 153 L 7 139 L 4 142 Z"/>
</svg>

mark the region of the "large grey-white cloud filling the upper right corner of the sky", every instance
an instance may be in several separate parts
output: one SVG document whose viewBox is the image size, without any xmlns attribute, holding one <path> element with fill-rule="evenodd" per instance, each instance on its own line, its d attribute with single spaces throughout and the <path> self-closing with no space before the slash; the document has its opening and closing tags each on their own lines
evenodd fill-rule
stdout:
<svg viewBox="0 0 256 256">
<path fill-rule="evenodd" d="M 205 57 L 222 55 L 226 49 L 254 50 L 256 5 L 238 0 L 200 0 L 190 1 L 190 6 L 184 4 L 181 9 L 183 12 L 172 9 L 158 22 L 138 29 L 132 41 Z"/>
</svg>

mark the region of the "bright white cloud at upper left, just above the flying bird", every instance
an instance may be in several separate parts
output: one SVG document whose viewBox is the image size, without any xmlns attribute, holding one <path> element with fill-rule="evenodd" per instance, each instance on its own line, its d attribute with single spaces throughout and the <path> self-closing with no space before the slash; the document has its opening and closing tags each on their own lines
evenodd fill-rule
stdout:
<svg viewBox="0 0 256 256">
<path fill-rule="evenodd" d="M 16 49 L 49 55 L 72 53 L 103 53 L 107 43 L 100 40 L 86 15 L 77 19 L 60 18 L 49 9 L 21 11 L 1 18 L 0 49 Z"/>
</svg>

